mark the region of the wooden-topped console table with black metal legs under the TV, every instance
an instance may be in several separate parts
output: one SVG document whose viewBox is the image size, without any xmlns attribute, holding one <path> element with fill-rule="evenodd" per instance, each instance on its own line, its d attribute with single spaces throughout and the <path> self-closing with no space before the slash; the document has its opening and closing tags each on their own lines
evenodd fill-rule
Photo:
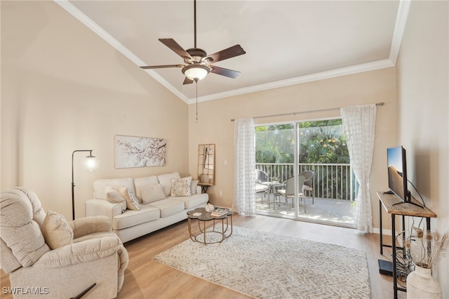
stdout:
<svg viewBox="0 0 449 299">
<path fill-rule="evenodd" d="M 436 214 L 430 211 L 428 208 L 421 208 L 420 206 L 415 206 L 413 204 L 397 204 L 401 203 L 401 199 L 396 197 L 395 194 L 385 194 L 384 192 L 378 191 L 377 197 L 379 197 L 379 225 L 380 225 L 380 254 L 383 254 L 384 247 L 390 247 L 393 251 L 393 262 L 392 262 L 392 272 L 393 272 L 393 288 L 394 288 L 394 299 L 398 298 L 398 291 L 407 291 L 406 288 L 399 288 L 397 277 L 396 277 L 396 227 L 395 227 L 395 215 L 402 216 L 402 230 L 405 227 L 405 216 L 422 217 L 426 218 L 427 230 L 430 230 L 430 218 L 436 218 Z M 417 201 L 412 197 L 412 200 L 417 203 Z M 383 243 L 382 240 L 382 206 L 391 214 L 391 245 Z M 406 232 L 402 232 L 403 243 L 405 243 Z"/>
</svg>

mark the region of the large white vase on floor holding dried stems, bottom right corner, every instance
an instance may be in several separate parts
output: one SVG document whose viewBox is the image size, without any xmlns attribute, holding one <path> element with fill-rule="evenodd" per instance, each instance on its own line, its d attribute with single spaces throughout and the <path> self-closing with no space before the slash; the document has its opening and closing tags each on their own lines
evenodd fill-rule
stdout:
<svg viewBox="0 0 449 299">
<path fill-rule="evenodd" d="M 441 299 L 441 286 L 434 277 L 432 270 L 415 265 L 415 271 L 407 277 L 407 299 Z"/>
</svg>

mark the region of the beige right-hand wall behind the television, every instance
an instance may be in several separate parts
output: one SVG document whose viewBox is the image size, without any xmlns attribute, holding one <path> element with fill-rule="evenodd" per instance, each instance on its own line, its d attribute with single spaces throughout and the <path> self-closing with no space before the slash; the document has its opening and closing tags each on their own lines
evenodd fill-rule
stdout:
<svg viewBox="0 0 449 299">
<path fill-rule="evenodd" d="M 413 1 L 397 64 L 398 142 L 407 150 L 408 179 L 436 213 L 431 226 L 440 232 L 449 230 L 448 16 L 448 1 Z M 449 257 L 438 265 L 448 298 Z"/>
</svg>

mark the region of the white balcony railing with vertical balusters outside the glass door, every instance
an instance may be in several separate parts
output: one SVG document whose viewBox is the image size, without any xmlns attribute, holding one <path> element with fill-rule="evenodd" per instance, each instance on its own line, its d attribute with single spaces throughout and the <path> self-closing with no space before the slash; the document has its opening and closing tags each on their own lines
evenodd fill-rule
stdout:
<svg viewBox="0 0 449 299">
<path fill-rule="evenodd" d="M 271 178 L 283 182 L 293 176 L 294 164 L 262 164 L 256 168 L 266 172 Z M 358 183 L 350 164 L 298 164 L 298 172 L 314 171 L 312 182 L 314 197 L 324 199 L 344 199 L 354 201 Z"/>
</svg>

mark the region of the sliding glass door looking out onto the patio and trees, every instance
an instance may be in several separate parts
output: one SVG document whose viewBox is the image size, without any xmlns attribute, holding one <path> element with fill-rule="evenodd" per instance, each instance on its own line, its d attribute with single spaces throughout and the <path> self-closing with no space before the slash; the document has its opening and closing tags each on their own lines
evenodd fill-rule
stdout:
<svg viewBox="0 0 449 299">
<path fill-rule="evenodd" d="M 258 182 L 268 188 L 257 192 L 257 213 L 354 224 L 356 186 L 341 119 L 257 126 L 255 140 L 256 168 L 269 178 Z"/>
</svg>

